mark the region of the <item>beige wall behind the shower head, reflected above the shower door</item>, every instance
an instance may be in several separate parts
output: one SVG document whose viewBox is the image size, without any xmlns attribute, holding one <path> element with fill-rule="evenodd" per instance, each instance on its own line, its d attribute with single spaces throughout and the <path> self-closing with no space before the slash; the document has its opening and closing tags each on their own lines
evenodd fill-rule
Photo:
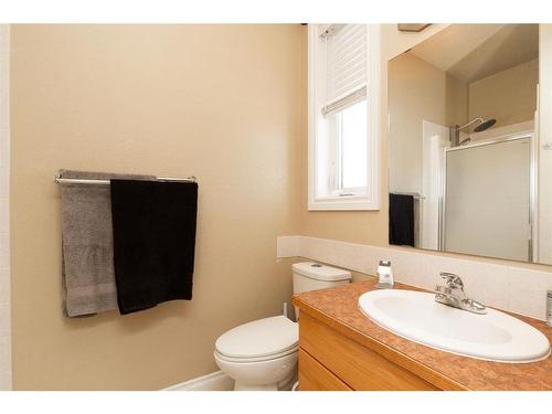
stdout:
<svg viewBox="0 0 552 414">
<path fill-rule="evenodd" d="M 493 128 L 534 119 L 539 60 L 469 84 L 469 119 L 496 118 Z"/>
</svg>

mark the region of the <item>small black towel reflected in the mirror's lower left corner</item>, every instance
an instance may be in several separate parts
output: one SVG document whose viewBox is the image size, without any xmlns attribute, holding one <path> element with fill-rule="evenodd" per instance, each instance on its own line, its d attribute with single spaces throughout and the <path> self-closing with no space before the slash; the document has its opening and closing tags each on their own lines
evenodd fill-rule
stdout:
<svg viewBox="0 0 552 414">
<path fill-rule="evenodd" d="M 389 244 L 414 247 L 414 197 L 389 194 Z"/>
</svg>

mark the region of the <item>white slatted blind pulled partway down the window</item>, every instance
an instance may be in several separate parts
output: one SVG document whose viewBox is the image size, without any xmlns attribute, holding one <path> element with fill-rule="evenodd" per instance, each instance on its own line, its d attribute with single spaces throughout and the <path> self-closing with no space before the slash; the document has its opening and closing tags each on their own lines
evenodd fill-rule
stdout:
<svg viewBox="0 0 552 414">
<path fill-rule="evenodd" d="M 327 51 L 326 116 L 367 96 L 368 31 L 365 24 L 332 24 L 320 38 Z"/>
</svg>

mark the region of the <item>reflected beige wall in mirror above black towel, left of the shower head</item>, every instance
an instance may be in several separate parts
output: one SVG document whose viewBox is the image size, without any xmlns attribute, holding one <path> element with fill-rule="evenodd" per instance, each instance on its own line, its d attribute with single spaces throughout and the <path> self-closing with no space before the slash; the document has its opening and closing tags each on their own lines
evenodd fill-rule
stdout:
<svg viewBox="0 0 552 414">
<path fill-rule="evenodd" d="M 466 123 L 468 86 L 412 53 L 388 70 L 390 189 L 422 193 L 423 121 Z"/>
</svg>

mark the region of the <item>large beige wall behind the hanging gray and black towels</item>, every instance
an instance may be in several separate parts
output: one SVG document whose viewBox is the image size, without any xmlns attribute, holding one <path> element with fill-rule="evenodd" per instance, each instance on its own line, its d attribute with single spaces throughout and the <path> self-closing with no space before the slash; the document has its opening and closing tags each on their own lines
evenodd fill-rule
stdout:
<svg viewBox="0 0 552 414">
<path fill-rule="evenodd" d="M 13 25 L 17 390 L 160 389 L 216 370 L 219 335 L 291 294 L 306 54 L 293 25 Z M 62 316 L 60 168 L 200 183 L 192 301 Z"/>
</svg>

